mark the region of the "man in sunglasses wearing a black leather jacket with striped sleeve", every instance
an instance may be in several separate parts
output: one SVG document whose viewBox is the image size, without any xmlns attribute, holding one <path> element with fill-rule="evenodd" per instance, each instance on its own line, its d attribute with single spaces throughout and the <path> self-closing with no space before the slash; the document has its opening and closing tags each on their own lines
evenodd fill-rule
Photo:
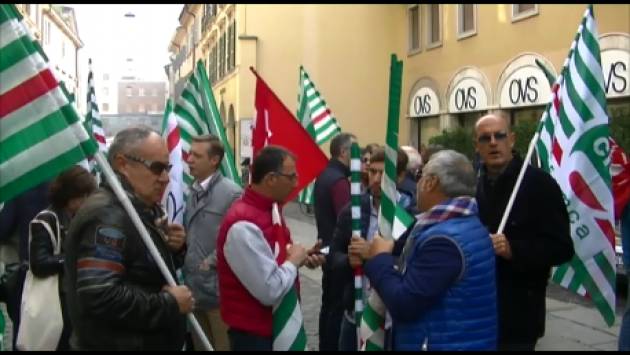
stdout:
<svg viewBox="0 0 630 355">
<path fill-rule="evenodd" d="M 145 127 L 121 131 L 109 150 L 113 169 L 175 278 L 184 230 L 164 225 L 158 205 L 169 181 L 168 158 L 165 141 Z M 192 294 L 186 286 L 167 285 L 108 184 L 72 221 L 65 268 L 73 349 L 182 349 Z"/>
</svg>

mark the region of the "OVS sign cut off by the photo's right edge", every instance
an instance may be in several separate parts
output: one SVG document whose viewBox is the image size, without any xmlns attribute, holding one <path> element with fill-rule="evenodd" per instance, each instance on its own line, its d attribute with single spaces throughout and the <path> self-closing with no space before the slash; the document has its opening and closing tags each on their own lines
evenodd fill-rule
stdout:
<svg viewBox="0 0 630 355">
<path fill-rule="evenodd" d="M 602 51 L 602 71 L 607 97 L 630 95 L 630 52 L 622 49 Z"/>
</svg>

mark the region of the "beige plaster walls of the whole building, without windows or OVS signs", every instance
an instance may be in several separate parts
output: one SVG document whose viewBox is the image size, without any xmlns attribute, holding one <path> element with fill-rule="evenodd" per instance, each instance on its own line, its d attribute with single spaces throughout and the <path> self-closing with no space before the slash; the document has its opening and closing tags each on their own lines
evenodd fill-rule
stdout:
<svg viewBox="0 0 630 355">
<path fill-rule="evenodd" d="M 171 44 L 174 56 L 178 53 L 181 56 L 179 51 L 190 43 L 189 36 L 198 28 L 195 19 L 204 17 L 206 6 L 209 5 L 189 4 L 180 14 L 182 26 L 174 33 Z M 526 69 L 529 72 L 535 70 L 531 68 L 534 58 L 557 73 L 586 9 L 584 4 L 538 4 L 535 14 L 514 19 L 512 4 L 475 5 L 476 31 L 460 38 L 458 5 L 442 4 L 441 44 L 429 46 L 429 5 L 420 4 L 420 50 L 410 52 L 412 6 L 218 5 L 211 21 L 202 21 L 198 29 L 201 36 L 196 50 L 189 51 L 179 70 L 174 68 L 179 73 L 174 81 L 190 73 L 193 56 L 209 65 L 210 50 L 235 19 L 235 68 L 216 81 L 213 90 L 217 105 L 225 114 L 224 123 L 237 160 L 241 143 L 249 144 L 241 142 L 241 132 L 247 131 L 254 114 L 255 77 L 249 71 L 250 66 L 295 112 L 298 71 L 304 65 L 342 129 L 355 133 L 362 145 L 383 144 L 390 54 L 396 53 L 403 60 L 399 142 L 419 146 L 442 129 L 461 125 L 470 128 L 479 115 L 503 107 L 504 85 L 517 78 L 515 73 L 525 70 L 523 67 L 530 66 Z M 630 53 L 630 5 L 595 5 L 594 11 L 600 35 L 609 35 L 608 45 L 628 47 Z M 602 51 L 605 46 L 602 42 Z M 464 110 L 468 111 L 465 114 L 455 112 L 449 108 L 449 100 L 471 80 L 485 92 L 486 100 L 483 104 L 479 100 L 476 109 Z M 414 95 L 422 88 L 432 90 L 439 106 L 427 118 L 418 118 L 410 107 Z M 541 100 L 545 97 L 544 88 L 540 90 L 536 102 L 518 104 L 522 106 L 515 109 L 520 112 L 519 119 L 537 116 L 536 110 L 542 109 Z M 227 117 L 230 107 L 234 109 L 234 121 Z M 322 149 L 328 153 L 328 145 Z"/>
</svg>

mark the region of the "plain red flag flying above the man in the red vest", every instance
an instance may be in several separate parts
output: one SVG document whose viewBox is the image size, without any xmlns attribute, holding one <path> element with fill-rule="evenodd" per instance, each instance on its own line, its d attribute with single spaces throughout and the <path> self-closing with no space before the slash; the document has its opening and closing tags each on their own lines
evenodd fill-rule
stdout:
<svg viewBox="0 0 630 355">
<path fill-rule="evenodd" d="M 250 69 L 256 75 L 256 119 L 252 132 L 252 155 L 256 157 L 262 148 L 273 144 L 286 148 L 296 157 L 298 183 L 286 203 L 293 200 L 326 168 L 328 158 L 254 68 Z"/>
</svg>

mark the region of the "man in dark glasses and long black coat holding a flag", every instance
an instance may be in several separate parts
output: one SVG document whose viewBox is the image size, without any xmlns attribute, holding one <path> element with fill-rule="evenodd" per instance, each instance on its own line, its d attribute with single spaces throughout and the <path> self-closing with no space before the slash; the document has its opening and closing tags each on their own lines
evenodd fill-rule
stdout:
<svg viewBox="0 0 630 355">
<path fill-rule="evenodd" d="M 496 233 L 523 160 L 514 133 L 497 112 L 475 125 L 483 165 L 477 184 L 479 215 Z M 499 350 L 533 351 L 545 333 L 545 297 L 552 266 L 574 254 L 562 191 L 544 171 L 528 166 L 502 234 L 491 234 L 496 255 Z"/>
</svg>

